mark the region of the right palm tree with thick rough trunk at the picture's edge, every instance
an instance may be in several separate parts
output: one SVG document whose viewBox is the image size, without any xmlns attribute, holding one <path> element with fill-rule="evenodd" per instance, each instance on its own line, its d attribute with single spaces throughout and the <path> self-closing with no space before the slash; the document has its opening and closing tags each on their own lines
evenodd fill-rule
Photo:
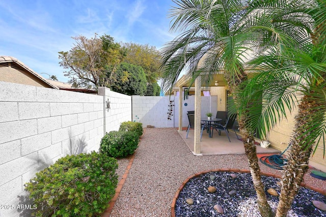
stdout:
<svg viewBox="0 0 326 217">
<path fill-rule="evenodd" d="M 306 37 L 296 47 L 284 49 L 277 54 L 269 50 L 256 59 L 263 72 L 252 78 L 238 97 L 244 97 L 240 116 L 246 112 L 250 116 L 246 125 L 266 135 L 275 123 L 285 116 L 285 108 L 291 110 L 300 96 L 295 128 L 290 144 L 287 163 L 283 167 L 280 202 L 276 216 L 286 216 L 294 196 L 308 170 L 309 157 L 313 145 L 325 138 L 326 133 L 326 5 L 323 1 L 301 2 L 308 8 L 305 14 L 314 29 L 311 37 Z M 310 17 L 309 17 L 310 16 Z M 260 106 L 253 106 L 257 97 L 263 99 Z M 248 110 L 248 106 L 250 109 Z M 281 111 L 275 113 L 275 111 Z M 317 145 L 316 145 L 317 148 Z"/>
</svg>

